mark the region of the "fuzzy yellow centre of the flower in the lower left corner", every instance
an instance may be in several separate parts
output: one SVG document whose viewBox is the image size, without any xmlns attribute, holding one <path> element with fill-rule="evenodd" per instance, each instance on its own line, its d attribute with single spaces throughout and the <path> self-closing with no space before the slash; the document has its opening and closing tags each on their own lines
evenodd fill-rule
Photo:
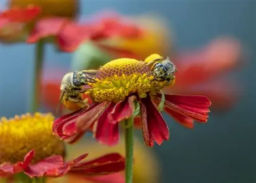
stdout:
<svg viewBox="0 0 256 183">
<path fill-rule="evenodd" d="M 0 120 L 0 164 L 23 161 L 25 155 L 35 150 L 33 162 L 51 155 L 65 155 L 65 144 L 52 134 L 54 117 L 35 113 Z"/>
</svg>

